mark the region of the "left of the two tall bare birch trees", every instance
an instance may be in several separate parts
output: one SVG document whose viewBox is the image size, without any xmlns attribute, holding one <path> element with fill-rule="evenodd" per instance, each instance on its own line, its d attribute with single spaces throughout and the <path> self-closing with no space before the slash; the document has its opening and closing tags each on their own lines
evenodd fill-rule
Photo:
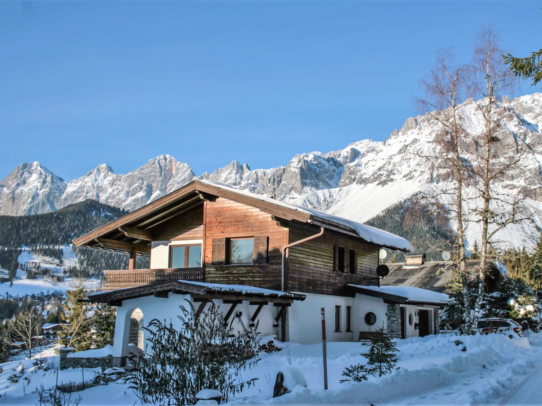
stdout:
<svg viewBox="0 0 542 406">
<path fill-rule="evenodd" d="M 468 331 L 471 323 L 465 249 L 467 222 L 464 215 L 467 209 L 463 193 L 465 184 L 472 179 L 463 156 L 465 130 L 460 114 L 460 104 L 467 89 L 467 74 L 467 66 L 454 65 L 454 55 L 450 50 L 438 51 L 434 68 L 420 82 L 425 98 L 417 101 L 418 106 L 427 112 L 428 120 L 438 124 L 433 148 L 429 148 L 429 152 L 418 152 L 430 162 L 435 172 L 433 189 L 423 194 L 423 200 L 432 207 L 433 213 L 443 211 L 456 221 L 454 261 L 463 285 L 463 303 L 459 304 L 463 307 L 463 331 Z"/>
</svg>

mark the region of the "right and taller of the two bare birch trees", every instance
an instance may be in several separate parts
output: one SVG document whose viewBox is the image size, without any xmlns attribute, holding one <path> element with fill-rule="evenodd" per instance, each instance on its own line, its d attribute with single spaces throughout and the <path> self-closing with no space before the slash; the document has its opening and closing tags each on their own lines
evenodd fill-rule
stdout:
<svg viewBox="0 0 542 406">
<path fill-rule="evenodd" d="M 522 190 L 512 194 L 502 191 L 496 183 L 511 176 L 513 169 L 518 168 L 525 151 L 518 144 L 515 154 L 510 158 L 502 158 L 504 154 L 500 136 L 508 131 L 502 127 L 502 121 L 512 113 L 500 105 L 498 98 L 503 91 L 512 90 L 514 74 L 506 67 L 502 58 L 504 50 L 498 34 L 488 27 L 480 30 L 474 43 L 473 62 L 470 67 L 472 80 L 470 94 L 473 96 L 475 114 L 482 118 L 483 132 L 476 136 L 479 151 L 479 163 L 473 166 L 476 177 L 474 187 L 477 201 L 472 214 L 481 225 L 480 266 L 478 276 L 478 297 L 474 306 L 470 331 L 476 333 L 480 318 L 483 293 L 485 289 L 485 273 L 489 264 L 491 239 L 495 233 L 514 222 L 531 217 L 524 204 Z M 512 134 L 516 137 L 515 134 Z"/>
</svg>

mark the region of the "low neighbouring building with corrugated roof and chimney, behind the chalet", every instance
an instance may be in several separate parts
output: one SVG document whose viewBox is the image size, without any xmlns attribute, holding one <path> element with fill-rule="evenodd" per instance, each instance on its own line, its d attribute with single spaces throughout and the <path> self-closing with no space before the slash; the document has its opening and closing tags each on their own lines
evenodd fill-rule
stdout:
<svg viewBox="0 0 542 406">
<path fill-rule="evenodd" d="M 448 281 L 453 278 L 456 265 L 452 261 L 426 261 L 424 253 L 405 254 L 406 262 L 386 264 L 390 269 L 388 276 L 380 280 L 380 286 L 415 286 L 434 292 L 449 293 Z M 469 277 L 475 279 L 479 274 L 480 260 L 467 261 Z M 498 261 L 488 263 L 486 293 L 493 293 L 500 280 L 507 274 L 506 266 Z"/>
</svg>

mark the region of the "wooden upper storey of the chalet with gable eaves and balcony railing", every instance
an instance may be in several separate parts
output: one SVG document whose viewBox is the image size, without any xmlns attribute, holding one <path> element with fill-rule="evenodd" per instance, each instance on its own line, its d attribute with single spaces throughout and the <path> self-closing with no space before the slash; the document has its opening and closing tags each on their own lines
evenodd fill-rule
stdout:
<svg viewBox="0 0 542 406">
<path fill-rule="evenodd" d="M 75 239 L 74 243 L 127 251 L 133 258 L 136 252 L 151 253 L 152 259 L 153 241 L 181 245 L 186 240 L 190 241 L 187 244 L 202 245 L 202 269 L 191 272 L 190 280 L 280 290 L 282 248 L 317 234 L 324 227 L 323 235 L 288 249 L 285 290 L 352 296 L 345 289 L 347 284 L 378 284 L 380 246 L 368 243 L 344 225 L 322 224 L 325 221 L 319 217 L 312 219 L 295 206 L 288 207 L 269 198 L 194 181 Z M 251 263 L 228 264 L 228 241 L 238 238 L 254 239 Z M 166 251 L 156 252 L 164 256 Z M 167 264 L 159 267 L 171 267 L 170 261 Z M 105 289 L 182 279 L 183 272 L 171 268 L 106 271 Z"/>
</svg>

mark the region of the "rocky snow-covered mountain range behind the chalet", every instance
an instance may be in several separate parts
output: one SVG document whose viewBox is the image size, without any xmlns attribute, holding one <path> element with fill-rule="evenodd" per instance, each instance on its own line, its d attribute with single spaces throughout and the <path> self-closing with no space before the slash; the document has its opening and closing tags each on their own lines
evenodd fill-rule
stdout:
<svg viewBox="0 0 542 406">
<path fill-rule="evenodd" d="M 526 153 L 514 173 L 502 179 L 504 193 L 521 191 L 528 209 L 542 209 L 542 94 L 504 97 L 499 109 L 506 113 L 500 127 L 500 158 Z M 462 105 L 464 127 L 472 134 L 483 130 L 472 101 Z M 428 115 L 410 117 L 401 130 L 383 142 L 362 140 L 338 151 L 296 155 L 286 167 L 251 170 L 237 161 L 197 176 L 187 163 L 160 155 L 128 174 L 114 174 L 102 164 L 81 178 L 65 182 L 38 162 L 23 163 L 0 185 L 0 214 L 22 215 L 54 211 L 85 199 L 133 210 L 169 193 L 192 179 L 210 179 L 276 199 L 323 209 L 353 220 L 365 221 L 386 207 L 428 187 L 445 184 L 449 176 L 420 156 L 433 148 L 436 122 Z M 478 145 L 468 143 L 470 165 L 479 165 Z M 469 227 L 469 240 L 478 234 Z M 496 237 L 509 244 L 532 245 L 542 229 L 542 218 L 513 225 Z"/>
</svg>

